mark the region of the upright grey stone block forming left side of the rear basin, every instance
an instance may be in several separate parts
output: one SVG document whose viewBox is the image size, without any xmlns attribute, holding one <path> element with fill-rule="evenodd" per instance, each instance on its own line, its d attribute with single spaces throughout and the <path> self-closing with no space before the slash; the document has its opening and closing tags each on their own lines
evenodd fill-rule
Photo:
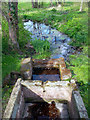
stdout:
<svg viewBox="0 0 90 120">
<path fill-rule="evenodd" d="M 22 62 L 21 62 L 21 70 L 20 73 L 22 75 L 22 78 L 24 80 L 31 80 L 32 77 L 32 62 L 31 62 L 31 58 L 25 58 Z"/>
</svg>

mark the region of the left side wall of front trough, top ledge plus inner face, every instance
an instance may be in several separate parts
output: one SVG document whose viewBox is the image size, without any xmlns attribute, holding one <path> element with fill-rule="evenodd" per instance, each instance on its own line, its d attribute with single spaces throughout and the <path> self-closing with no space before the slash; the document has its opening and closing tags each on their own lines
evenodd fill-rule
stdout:
<svg viewBox="0 0 90 120">
<path fill-rule="evenodd" d="M 18 79 L 13 91 L 11 93 L 11 97 L 9 99 L 8 105 L 4 112 L 3 118 L 20 118 L 22 115 L 22 111 L 24 109 L 24 97 L 21 92 L 21 79 Z M 20 110 L 20 112 L 19 112 Z M 19 114 L 19 113 L 20 114 Z"/>
</svg>

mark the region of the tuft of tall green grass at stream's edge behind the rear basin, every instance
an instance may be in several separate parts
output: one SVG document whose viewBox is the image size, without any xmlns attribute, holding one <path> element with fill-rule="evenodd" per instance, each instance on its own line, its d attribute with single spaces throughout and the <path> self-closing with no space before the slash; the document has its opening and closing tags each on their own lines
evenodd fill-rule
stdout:
<svg viewBox="0 0 90 120">
<path fill-rule="evenodd" d="M 36 39 L 32 40 L 30 43 L 34 46 L 36 51 L 36 55 L 33 56 L 34 58 L 42 59 L 50 56 L 50 43 L 47 40 Z"/>
</svg>

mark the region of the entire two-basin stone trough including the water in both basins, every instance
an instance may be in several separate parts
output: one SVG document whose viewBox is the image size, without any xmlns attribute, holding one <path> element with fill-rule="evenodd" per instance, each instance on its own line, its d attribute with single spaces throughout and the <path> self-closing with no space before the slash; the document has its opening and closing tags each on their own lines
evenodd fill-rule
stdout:
<svg viewBox="0 0 90 120">
<path fill-rule="evenodd" d="M 3 118 L 88 118 L 87 110 L 77 85 L 71 78 L 71 72 L 66 68 L 64 58 L 25 58 L 22 61 L 21 73 L 22 78 L 17 80 L 13 88 Z"/>
</svg>

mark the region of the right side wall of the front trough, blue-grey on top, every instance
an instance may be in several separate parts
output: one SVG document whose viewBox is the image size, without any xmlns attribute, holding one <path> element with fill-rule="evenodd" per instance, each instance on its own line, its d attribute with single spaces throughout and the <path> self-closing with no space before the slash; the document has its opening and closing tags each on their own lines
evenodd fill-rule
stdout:
<svg viewBox="0 0 90 120">
<path fill-rule="evenodd" d="M 88 118 L 87 110 L 79 91 L 72 91 L 71 102 L 69 103 L 70 117 L 73 120 L 76 118 Z"/>
</svg>

